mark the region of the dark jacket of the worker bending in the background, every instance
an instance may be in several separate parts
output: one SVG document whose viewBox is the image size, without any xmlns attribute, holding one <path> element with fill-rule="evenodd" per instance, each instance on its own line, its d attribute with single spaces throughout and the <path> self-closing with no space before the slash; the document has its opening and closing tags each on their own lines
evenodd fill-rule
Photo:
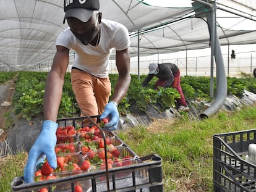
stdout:
<svg viewBox="0 0 256 192">
<path fill-rule="evenodd" d="M 154 75 L 161 80 L 167 80 L 163 88 L 171 87 L 174 81 L 174 74 L 178 72 L 179 68 L 175 64 L 163 63 L 158 64 L 159 72 L 155 74 L 148 74 L 148 77 L 142 83 L 142 86 L 146 86 L 148 82 L 154 77 Z"/>
</svg>

